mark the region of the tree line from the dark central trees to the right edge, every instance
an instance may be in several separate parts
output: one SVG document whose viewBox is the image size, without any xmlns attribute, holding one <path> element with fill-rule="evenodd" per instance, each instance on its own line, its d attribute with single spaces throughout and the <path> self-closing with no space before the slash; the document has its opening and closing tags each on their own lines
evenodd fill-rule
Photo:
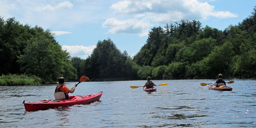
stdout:
<svg viewBox="0 0 256 128">
<path fill-rule="evenodd" d="M 133 57 L 111 39 L 99 41 L 87 59 L 72 58 L 78 76 L 94 79 L 211 79 L 256 77 L 256 9 L 221 31 L 196 20 L 154 27 Z"/>
</svg>

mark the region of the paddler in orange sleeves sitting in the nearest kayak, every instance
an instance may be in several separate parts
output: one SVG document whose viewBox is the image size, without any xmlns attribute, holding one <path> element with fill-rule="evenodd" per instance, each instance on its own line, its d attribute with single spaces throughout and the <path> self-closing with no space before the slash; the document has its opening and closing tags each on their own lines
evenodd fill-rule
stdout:
<svg viewBox="0 0 256 128">
<path fill-rule="evenodd" d="M 55 100 L 69 99 L 69 93 L 75 92 L 77 84 L 75 84 L 75 86 L 72 89 L 69 89 L 67 86 L 65 86 L 64 77 L 59 77 L 58 82 L 59 85 L 55 88 L 54 93 Z"/>
</svg>

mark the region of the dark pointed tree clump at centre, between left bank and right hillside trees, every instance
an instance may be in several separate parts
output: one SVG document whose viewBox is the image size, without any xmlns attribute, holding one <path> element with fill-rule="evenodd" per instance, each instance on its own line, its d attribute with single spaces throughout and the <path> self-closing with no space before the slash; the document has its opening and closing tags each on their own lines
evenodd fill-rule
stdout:
<svg viewBox="0 0 256 128">
<path fill-rule="evenodd" d="M 98 41 L 92 54 L 80 65 L 81 72 L 87 72 L 92 79 L 122 78 L 127 57 L 127 52 L 121 53 L 111 39 Z"/>
</svg>

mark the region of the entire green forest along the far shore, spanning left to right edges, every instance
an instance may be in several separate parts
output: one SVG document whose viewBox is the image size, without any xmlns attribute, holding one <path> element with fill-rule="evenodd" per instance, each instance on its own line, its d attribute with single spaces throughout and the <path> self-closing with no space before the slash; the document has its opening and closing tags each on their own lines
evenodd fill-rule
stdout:
<svg viewBox="0 0 256 128">
<path fill-rule="evenodd" d="M 50 30 L 0 16 L 0 75 L 26 74 L 42 83 L 59 76 L 77 80 L 256 78 L 256 7 L 251 16 L 225 30 L 181 20 L 154 27 L 135 56 L 111 38 L 99 40 L 87 59 L 63 51 Z"/>
</svg>

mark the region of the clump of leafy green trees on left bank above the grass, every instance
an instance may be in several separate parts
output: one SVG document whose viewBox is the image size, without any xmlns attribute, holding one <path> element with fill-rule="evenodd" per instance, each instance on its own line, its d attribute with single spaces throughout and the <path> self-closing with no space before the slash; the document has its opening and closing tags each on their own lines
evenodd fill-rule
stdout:
<svg viewBox="0 0 256 128">
<path fill-rule="evenodd" d="M 50 30 L 22 25 L 15 18 L 0 17 L 0 74 L 37 76 L 42 83 L 59 76 L 76 79 L 71 56 L 63 51 Z"/>
</svg>

